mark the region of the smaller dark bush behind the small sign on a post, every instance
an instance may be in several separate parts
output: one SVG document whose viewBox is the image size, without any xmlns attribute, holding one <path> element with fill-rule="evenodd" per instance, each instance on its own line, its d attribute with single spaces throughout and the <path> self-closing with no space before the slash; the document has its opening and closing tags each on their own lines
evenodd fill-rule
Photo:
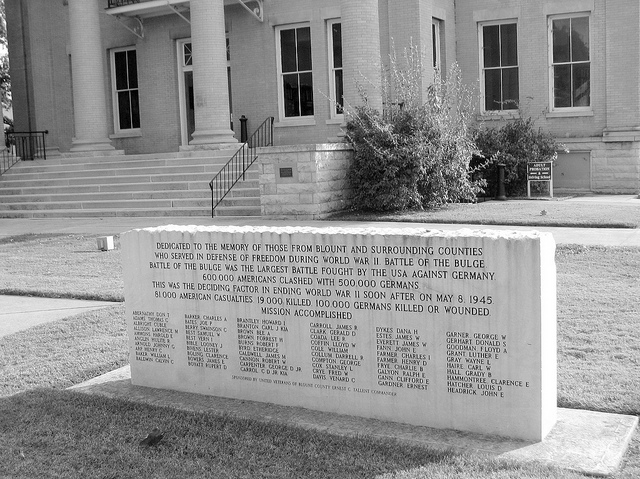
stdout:
<svg viewBox="0 0 640 479">
<path fill-rule="evenodd" d="M 557 151 L 563 148 L 549 132 L 536 128 L 532 118 L 521 115 L 499 128 L 479 128 L 475 132 L 480 154 L 471 165 L 485 179 L 487 196 L 495 195 L 499 164 L 505 165 L 506 195 L 523 196 L 527 192 L 527 163 L 555 161 Z"/>
</svg>

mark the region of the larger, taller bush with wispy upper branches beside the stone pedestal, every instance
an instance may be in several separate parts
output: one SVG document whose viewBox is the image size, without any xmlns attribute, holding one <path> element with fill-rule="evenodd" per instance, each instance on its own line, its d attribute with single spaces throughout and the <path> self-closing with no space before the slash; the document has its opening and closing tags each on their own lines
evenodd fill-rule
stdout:
<svg viewBox="0 0 640 479">
<path fill-rule="evenodd" d="M 434 208 L 475 199 L 470 180 L 475 151 L 469 125 L 473 95 L 454 65 L 422 94 L 422 62 L 411 48 L 401 68 L 395 57 L 384 82 L 384 112 L 366 104 L 347 108 L 353 206 L 393 211 Z M 365 96 L 363 96 L 365 98 Z"/>
</svg>

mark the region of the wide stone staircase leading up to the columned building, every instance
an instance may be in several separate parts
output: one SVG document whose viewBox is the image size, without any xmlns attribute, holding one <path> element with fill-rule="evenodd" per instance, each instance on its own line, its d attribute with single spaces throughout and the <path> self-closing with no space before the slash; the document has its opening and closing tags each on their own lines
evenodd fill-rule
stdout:
<svg viewBox="0 0 640 479">
<path fill-rule="evenodd" d="M 54 157 L 0 176 L 0 218 L 211 216 L 209 181 L 235 150 Z M 216 208 L 260 216 L 257 164 Z"/>
</svg>

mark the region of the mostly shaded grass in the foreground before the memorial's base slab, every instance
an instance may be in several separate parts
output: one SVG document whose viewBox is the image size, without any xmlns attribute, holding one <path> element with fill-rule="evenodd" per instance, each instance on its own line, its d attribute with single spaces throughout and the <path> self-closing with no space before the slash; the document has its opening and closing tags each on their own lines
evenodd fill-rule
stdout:
<svg viewBox="0 0 640 479">
<path fill-rule="evenodd" d="M 158 427 L 155 447 L 140 440 Z M 0 399 L 9 477 L 580 477 L 544 466 L 36 389 Z"/>
</svg>

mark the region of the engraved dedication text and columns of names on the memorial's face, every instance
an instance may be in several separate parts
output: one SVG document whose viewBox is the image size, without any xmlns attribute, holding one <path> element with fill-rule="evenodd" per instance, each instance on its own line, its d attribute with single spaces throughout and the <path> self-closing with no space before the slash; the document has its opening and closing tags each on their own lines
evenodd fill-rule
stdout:
<svg viewBox="0 0 640 479">
<path fill-rule="evenodd" d="M 482 246 L 423 243 L 155 241 L 149 300 L 165 310 L 134 311 L 135 360 L 173 364 L 181 342 L 189 368 L 243 381 L 497 399 L 529 387 L 496 374 L 511 339 L 487 326 L 499 268 Z M 434 337 L 457 318 L 477 326 Z"/>
</svg>

